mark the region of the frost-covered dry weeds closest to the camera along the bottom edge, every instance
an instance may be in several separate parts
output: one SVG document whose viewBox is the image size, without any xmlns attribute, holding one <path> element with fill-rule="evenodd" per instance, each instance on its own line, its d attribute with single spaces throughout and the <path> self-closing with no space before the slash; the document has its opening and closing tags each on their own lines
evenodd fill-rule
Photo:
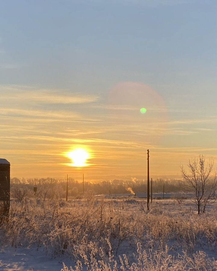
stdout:
<svg viewBox="0 0 217 271">
<path fill-rule="evenodd" d="M 81 260 L 77 260 L 77 265 L 75 269 L 70 266 L 70 269 L 63 263 L 63 268 L 61 271 L 78 271 L 85 269 L 98 271 L 117 271 L 119 270 L 118 262 L 115 260 L 115 255 L 112 251 L 112 246 L 109 243 L 109 253 L 106 257 L 106 253 L 103 249 L 92 248 L 90 255 L 86 255 L 82 246 L 75 246 L 74 250 L 80 254 Z M 188 256 L 184 251 L 184 255 L 179 255 L 178 259 L 174 259 L 172 255 L 168 253 L 168 247 L 166 246 L 165 251 L 154 251 L 150 249 L 149 251 L 142 250 L 142 245 L 140 242 L 137 243 L 137 253 L 135 254 L 134 261 L 127 257 L 126 254 L 119 256 L 119 261 L 121 264 L 121 270 L 140 270 L 140 271 L 153 271 L 153 270 L 216 270 L 217 261 L 207 258 L 207 254 L 203 251 L 199 251 L 193 254 L 194 260 Z M 101 259 L 101 260 L 98 260 Z"/>
</svg>

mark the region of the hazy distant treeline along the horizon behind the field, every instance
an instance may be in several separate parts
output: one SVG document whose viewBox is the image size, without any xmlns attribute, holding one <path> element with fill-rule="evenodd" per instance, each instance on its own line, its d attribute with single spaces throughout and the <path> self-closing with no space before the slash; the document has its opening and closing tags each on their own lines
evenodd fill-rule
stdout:
<svg viewBox="0 0 217 271">
<path fill-rule="evenodd" d="M 156 179 L 153 180 L 153 193 L 178 192 L 183 190 L 183 181 L 177 179 Z M 30 178 L 30 179 L 11 179 L 11 188 L 17 186 L 20 188 L 29 188 L 33 190 L 34 186 L 49 187 L 49 189 L 58 189 L 59 193 L 64 195 L 66 191 L 66 180 L 58 178 Z M 84 182 L 84 191 L 93 190 L 95 194 L 125 194 L 147 191 L 147 181 L 145 180 L 106 180 L 98 183 Z M 77 196 L 83 193 L 83 182 L 78 182 L 73 178 L 68 178 L 68 195 Z"/>
</svg>

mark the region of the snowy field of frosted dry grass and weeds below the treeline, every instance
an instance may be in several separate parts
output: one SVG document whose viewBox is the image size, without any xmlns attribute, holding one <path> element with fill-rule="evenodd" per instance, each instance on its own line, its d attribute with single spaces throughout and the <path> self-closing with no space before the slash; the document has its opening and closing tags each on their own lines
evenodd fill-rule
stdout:
<svg viewBox="0 0 217 271">
<path fill-rule="evenodd" d="M 0 270 L 217 270 L 217 211 L 198 216 L 190 200 L 147 211 L 142 199 L 26 198 L 11 201 L 0 241 Z"/>
</svg>

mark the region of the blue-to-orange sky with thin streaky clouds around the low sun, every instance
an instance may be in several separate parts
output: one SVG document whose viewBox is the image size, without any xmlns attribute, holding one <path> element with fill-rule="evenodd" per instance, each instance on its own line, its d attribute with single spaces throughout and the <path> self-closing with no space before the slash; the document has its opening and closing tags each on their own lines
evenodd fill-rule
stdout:
<svg viewBox="0 0 217 271">
<path fill-rule="evenodd" d="M 2 0 L 0 158 L 12 177 L 217 165 L 217 2 Z M 140 108 L 147 109 L 145 114 Z M 84 148 L 88 167 L 67 152 Z"/>
</svg>

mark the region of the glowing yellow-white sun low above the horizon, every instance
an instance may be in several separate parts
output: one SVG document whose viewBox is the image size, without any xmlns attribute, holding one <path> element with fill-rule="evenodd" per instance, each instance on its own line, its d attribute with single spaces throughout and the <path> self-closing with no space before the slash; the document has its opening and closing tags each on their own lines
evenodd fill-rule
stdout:
<svg viewBox="0 0 217 271">
<path fill-rule="evenodd" d="M 68 153 L 68 157 L 72 160 L 73 167 L 86 167 L 86 160 L 90 158 L 90 154 L 85 149 L 75 149 Z"/>
</svg>

